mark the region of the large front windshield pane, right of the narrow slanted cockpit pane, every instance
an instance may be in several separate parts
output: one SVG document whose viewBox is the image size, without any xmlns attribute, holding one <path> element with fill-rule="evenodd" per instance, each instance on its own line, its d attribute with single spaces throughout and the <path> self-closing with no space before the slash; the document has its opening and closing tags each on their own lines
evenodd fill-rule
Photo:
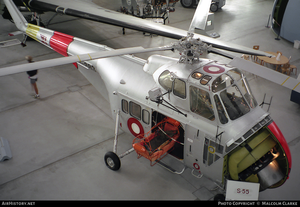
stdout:
<svg viewBox="0 0 300 207">
<path fill-rule="evenodd" d="M 238 119 L 250 111 L 250 107 L 236 85 L 220 92 L 220 98 L 231 120 Z"/>
</svg>

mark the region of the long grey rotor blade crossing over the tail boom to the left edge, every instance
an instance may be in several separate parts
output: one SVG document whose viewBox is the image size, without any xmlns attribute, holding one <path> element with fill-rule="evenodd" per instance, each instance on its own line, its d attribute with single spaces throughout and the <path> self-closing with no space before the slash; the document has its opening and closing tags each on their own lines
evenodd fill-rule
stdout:
<svg viewBox="0 0 300 207">
<path fill-rule="evenodd" d="M 157 48 L 143 48 L 143 47 L 133 47 L 133 48 L 122 48 L 116 50 L 109 50 L 109 51 L 101 51 L 101 52 L 94 52 L 89 54 L 80 54 L 68 57 L 60 57 L 50 60 L 42 60 L 33 63 L 26 63 L 17 66 L 9 66 L 5 68 L 0 68 L 0 76 L 6 76 L 14 73 L 22 73 L 29 70 L 37 70 L 47 67 L 65 65 L 69 63 L 76 63 L 86 60 L 95 60 L 104 57 L 114 57 L 120 56 L 125 54 L 135 54 L 135 53 L 143 53 L 143 52 L 152 52 L 152 51 L 160 51 L 160 50 L 171 50 L 173 46 L 163 46 Z"/>
</svg>

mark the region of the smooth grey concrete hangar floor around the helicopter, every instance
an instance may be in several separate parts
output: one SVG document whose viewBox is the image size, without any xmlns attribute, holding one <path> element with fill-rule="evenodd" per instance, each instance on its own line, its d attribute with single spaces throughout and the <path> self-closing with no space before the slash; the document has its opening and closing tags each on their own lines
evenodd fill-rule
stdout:
<svg viewBox="0 0 300 207">
<path fill-rule="evenodd" d="M 105 0 L 95 3 L 118 10 L 121 1 Z M 113 3 L 112 3 L 113 2 Z M 281 51 L 300 68 L 300 50 L 266 28 L 274 0 L 230 0 L 214 13 L 214 29 L 221 40 L 262 51 Z M 186 9 L 180 3 L 170 14 L 171 26 L 188 29 L 196 8 Z M 42 20 L 51 17 L 46 13 Z M 271 22 L 270 22 L 271 24 Z M 0 18 L 0 39 L 9 37 L 16 27 Z M 160 36 L 144 36 L 142 32 L 105 25 L 67 16 L 55 17 L 49 29 L 87 39 L 111 48 L 168 45 L 174 40 Z M 61 57 L 60 54 L 35 41 L 27 46 L 0 48 L 0 66 Z M 147 59 L 148 54 L 137 57 Z M 159 52 L 176 57 L 175 53 Z M 213 54 L 205 57 L 228 63 L 229 59 Z M 266 65 L 272 67 L 271 65 Z M 300 73 L 300 71 L 298 72 Z M 290 90 L 260 77 L 247 74 L 252 91 L 262 103 L 271 99 L 270 116 L 285 136 L 292 153 L 292 170 L 286 183 L 276 189 L 259 193 L 259 200 L 298 200 L 300 147 L 300 106 L 289 101 Z M 296 78 L 295 71 L 291 77 Z M 121 159 L 119 171 L 104 164 L 104 154 L 113 150 L 115 121 L 110 104 L 75 69 L 72 64 L 39 71 L 40 100 L 32 98 L 33 91 L 25 73 L 0 78 L 0 136 L 9 141 L 13 158 L 0 163 L 0 200 L 212 200 L 220 193 L 207 178 L 196 178 L 186 169 L 173 174 L 160 165 L 150 166 L 146 159 L 132 153 Z M 268 110 L 268 106 L 264 106 Z M 134 137 L 120 133 L 117 152 L 131 148 Z M 181 171 L 183 164 L 166 157 L 165 162 Z M 212 172 L 213 173 L 213 172 Z"/>
</svg>

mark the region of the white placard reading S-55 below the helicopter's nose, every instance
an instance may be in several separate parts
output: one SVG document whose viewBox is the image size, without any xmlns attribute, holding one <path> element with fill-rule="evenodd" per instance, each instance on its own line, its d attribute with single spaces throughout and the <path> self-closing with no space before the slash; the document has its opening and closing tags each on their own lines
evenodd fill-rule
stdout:
<svg viewBox="0 0 300 207">
<path fill-rule="evenodd" d="M 258 200 L 259 183 L 228 181 L 226 200 Z"/>
</svg>

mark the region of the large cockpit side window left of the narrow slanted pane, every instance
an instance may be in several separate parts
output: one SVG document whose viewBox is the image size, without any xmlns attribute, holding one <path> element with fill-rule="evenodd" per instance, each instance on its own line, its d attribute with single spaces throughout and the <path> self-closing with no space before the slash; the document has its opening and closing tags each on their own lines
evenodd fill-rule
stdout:
<svg viewBox="0 0 300 207">
<path fill-rule="evenodd" d="M 190 110 L 211 121 L 215 119 L 209 93 L 192 85 L 190 86 Z"/>
</svg>

